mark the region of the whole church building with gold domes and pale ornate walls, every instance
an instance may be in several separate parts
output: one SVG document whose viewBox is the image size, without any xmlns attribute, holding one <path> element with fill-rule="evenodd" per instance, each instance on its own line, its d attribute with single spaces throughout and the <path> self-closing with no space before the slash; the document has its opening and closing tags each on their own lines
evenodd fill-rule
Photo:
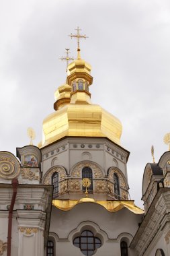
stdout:
<svg viewBox="0 0 170 256">
<path fill-rule="evenodd" d="M 92 82 L 78 44 L 38 147 L 0 152 L 0 255 L 170 255 L 170 152 L 146 164 L 143 211 L 128 195 L 122 124 L 92 104 Z"/>
</svg>

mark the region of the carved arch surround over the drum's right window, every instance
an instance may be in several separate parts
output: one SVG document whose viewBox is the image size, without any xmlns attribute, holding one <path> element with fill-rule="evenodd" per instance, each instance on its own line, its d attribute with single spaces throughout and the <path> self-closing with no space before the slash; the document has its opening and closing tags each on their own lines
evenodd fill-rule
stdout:
<svg viewBox="0 0 170 256">
<path fill-rule="evenodd" d="M 120 180 L 120 187 L 123 189 L 128 189 L 128 183 L 126 181 L 126 177 L 124 176 L 123 172 L 116 167 L 110 167 L 108 170 L 108 179 L 114 183 L 114 173 L 118 175 Z"/>
</svg>

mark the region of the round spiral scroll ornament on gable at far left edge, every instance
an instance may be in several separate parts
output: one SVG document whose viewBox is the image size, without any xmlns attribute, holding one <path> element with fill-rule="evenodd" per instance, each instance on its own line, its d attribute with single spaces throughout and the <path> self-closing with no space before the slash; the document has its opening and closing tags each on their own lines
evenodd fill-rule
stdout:
<svg viewBox="0 0 170 256">
<path fill-rule="evenodd" d="M 0 177 L 3 179 L 13 179 L 19 175 L 20 165 L 9 152 L 0 152 Z"/>
</svg>

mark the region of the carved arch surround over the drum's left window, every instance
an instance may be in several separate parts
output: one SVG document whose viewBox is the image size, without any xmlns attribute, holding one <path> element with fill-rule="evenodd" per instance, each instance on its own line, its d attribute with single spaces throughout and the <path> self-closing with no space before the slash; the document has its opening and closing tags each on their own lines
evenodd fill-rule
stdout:
<svg viewBox="0 0 170 256">
<path fill-rule="evenodd" d="M 58 172 L 59 181 L 63 181 L 67 177 L 66 170 L 65 170 L 64 167 L 55 166 L 55 167 L 50 168 L 50 170 L 48 170 L 46 172 L 46 174 L 44 175 L 42 184 L 50 185 L 51 184 L 51 177 L 52 177 L 52 174 L 54 174 L 54 172 Z"/>
</svg>

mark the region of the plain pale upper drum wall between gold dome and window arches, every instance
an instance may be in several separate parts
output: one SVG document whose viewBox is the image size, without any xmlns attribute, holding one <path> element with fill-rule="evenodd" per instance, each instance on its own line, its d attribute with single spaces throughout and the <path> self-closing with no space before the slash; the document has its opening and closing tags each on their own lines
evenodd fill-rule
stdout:
<svg viewBox="0 0 170 256">
<path fill-rule="evenodd" d="M 69 173 L 77 162 L 91 160 L 105 170 L 111 166 L 118 167 L 126 175 L 127 152 L 118 148 L 107 139 L 68 138 L 42 149 L 43 175 L 50 167 L 64 166 Z"/>
</svg>

